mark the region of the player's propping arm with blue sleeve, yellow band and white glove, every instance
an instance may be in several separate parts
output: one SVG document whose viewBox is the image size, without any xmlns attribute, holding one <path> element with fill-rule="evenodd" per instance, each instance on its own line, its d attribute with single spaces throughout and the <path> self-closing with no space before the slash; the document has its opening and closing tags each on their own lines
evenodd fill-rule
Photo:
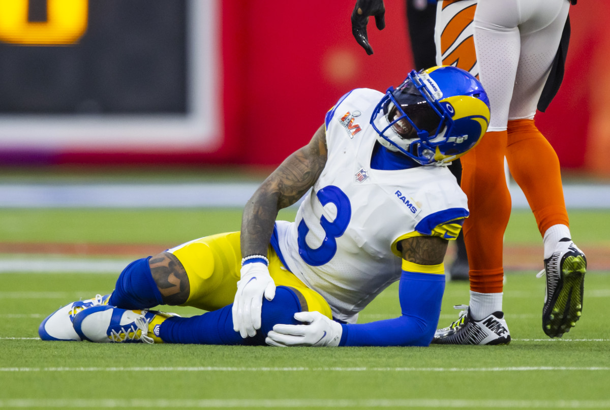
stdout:
<svg viewBox="0 0 610 410">
<path fill-rule="evenodd" d="M 301 312 L 303 325 L 276 325 L 267 334 L 273 346 L 428 346 L 439 323 L 445 290 L 443 257 L 447 240 L 418 236 L 400 242 L 403 273 L 398 286 L 402 314 L 377 322 L 339 324 L 318 312 Z M 320 343 L 323 342 L 323 343 Z"/>
</svg>

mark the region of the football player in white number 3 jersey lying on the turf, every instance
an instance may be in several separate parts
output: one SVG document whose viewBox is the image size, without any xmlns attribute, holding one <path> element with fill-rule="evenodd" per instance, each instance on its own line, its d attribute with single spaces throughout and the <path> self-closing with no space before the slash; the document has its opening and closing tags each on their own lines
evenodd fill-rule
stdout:
<svg viewBox="0 0 610 410">
<path fill-rule="evenodd" d="M 489 101 L 466 71 L 411 71 L 385 94 L 357 88 L 265 179 L 242 229 L 129 264 L 110 295 L 47 317 L 43 340 L 273 346 L 427 346 L 443 258 L 468 216 L 445 165 L 478 143 Z M 278 210 L 305 195 L 295 221 Z M 395 281 L 402 315 L 356 324 Z M 159 304 L 208 312 L 178 317 Z"/>
</svg>

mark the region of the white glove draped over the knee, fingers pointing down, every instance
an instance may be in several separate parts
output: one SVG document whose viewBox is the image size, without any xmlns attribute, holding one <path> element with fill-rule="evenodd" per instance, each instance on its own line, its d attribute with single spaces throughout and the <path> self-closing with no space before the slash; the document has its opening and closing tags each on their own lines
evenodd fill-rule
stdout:
<svg viewBox="0 0 610 410">
<path fill-rule="evenodd" d="M 275 282 L 269 268 L 262 262 L 242 266 L 242 279 L 237 282 L 237 293 L 233 302 L 233 330 L 245 339 L 254 336 L 260 329 L 260 311 L 263 295 L 267 300 L 275 297 Z"/>
</svg>

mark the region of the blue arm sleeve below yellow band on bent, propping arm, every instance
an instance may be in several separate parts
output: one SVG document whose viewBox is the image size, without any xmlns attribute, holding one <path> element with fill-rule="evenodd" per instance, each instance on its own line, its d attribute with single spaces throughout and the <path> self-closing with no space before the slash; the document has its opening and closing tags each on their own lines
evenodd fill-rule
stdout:
<svg viewBox="0 0 610 410">
<path fill-rule="evenodd" d="M 445 275 L 405 272 L 400 278 L 400 317 L 345 325 L 339 346 L 428 346 L 439 324 Z"/>
</svg>

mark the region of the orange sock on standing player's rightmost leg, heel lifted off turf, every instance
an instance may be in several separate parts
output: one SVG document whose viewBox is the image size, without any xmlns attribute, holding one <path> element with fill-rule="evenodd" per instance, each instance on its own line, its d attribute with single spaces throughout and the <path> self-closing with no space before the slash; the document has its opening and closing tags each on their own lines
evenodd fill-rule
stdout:
<svg viewBox="0 0 610 410">
<path fill-rule="evenodd" d="M 506 160 L 525 193 L 540 235 L 553 225 L 569 226 L 559 159 L 534 120 L 508 121 Z"/>
</svg>

